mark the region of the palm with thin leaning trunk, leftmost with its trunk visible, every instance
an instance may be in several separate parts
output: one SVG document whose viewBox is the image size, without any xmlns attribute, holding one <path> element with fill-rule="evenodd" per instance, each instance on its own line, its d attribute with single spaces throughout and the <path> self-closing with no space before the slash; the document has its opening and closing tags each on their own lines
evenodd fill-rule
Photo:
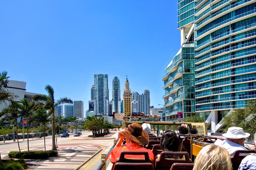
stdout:
<svg viewBox="0 0 256 170">
<path fill-rule="evenodd" d="M 18 137 L 18 122 L 17 119 L 20 118 L 20 114 L 18 112 L 18 103 L 17 102 L 11 102 L 11 104 L 2 110 L 0 113 L 0 117 L 4 116 L 0 122 L 12 122 L 11 125 L 16 123 L 16 128 L 17 128 L 17 143 L 20 151 L 20 144 L 19 144 L 19 137 Z"/>
</svg>

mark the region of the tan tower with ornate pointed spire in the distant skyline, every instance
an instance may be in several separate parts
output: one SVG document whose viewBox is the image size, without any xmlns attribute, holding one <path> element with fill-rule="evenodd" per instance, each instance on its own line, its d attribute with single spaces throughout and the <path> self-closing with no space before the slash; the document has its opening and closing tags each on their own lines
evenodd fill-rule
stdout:
<svg viewBox="0 0 256 170">
<path fill-rule="evenodd" d="M 126 76 L 125 81 L 125 89 L 123 94 L 123 108 L 124 108 L 124 116 L 128 117 L 132 114 L 132 95 L 131 89 L 129 89 L 129 81 Z"/>
</svg>

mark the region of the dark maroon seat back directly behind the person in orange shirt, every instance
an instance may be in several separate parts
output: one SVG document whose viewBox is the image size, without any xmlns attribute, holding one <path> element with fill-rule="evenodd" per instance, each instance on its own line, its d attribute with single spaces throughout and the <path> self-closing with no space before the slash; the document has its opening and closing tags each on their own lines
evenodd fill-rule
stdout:
<svg viewBox="0 0 256 170">
<path fill-rule="evenodd" d="M 146 151 L 122 151 L 116 162 L 124 163 L 152 163 Z"/>
</svg>

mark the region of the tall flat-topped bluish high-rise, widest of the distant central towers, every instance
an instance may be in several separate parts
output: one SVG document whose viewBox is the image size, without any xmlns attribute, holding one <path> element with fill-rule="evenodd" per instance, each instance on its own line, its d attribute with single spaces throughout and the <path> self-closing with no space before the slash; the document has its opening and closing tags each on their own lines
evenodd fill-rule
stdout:
<svg viewBox="0 0 256 170">
<path fill-rule="evenodd" d="M 108 75 L 94 74 L 94 114 L 108 115 Z"/>
</svg>

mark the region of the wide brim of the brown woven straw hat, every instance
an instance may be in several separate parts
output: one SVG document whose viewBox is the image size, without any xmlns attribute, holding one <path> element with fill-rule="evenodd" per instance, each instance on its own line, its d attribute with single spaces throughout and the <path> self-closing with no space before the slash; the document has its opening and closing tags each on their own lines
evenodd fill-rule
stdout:
<svg viewBox="0 0 256 170">
<path fill-rule="evenodd" d="M 129 133 L 129 131 L 127 129 L 124 130 L 124 131 L 120 131 L 119 133 L 121 133 L 125 137 L 128 137 L 132 141 L 134 141 L 136 143 L 139 143 L 139 144 L 142 144 L 142 145 L 148 144 L 148 141 L 149 141 L 148 133 L 145 130 L 142 130 L 141 137 L 137 137 L 137 136 L 132 135 L 131 133 Z"/>
</svg>

